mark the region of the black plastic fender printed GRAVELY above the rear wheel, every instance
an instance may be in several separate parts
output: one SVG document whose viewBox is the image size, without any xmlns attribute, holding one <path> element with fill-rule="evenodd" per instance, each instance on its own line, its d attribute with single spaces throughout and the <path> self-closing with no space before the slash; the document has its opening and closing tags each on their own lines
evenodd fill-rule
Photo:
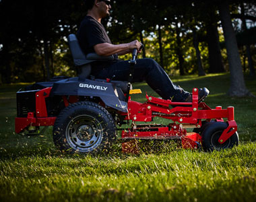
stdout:
<svg viewBox="0 0 256 202">
<path fill-rule="evenodd" d="M 119 99 L 115 84 L 72 77 L 53 84 L 51 96 L 99 97 L 106 106 L 127 112 L 127 102 Z"/>
</svg>

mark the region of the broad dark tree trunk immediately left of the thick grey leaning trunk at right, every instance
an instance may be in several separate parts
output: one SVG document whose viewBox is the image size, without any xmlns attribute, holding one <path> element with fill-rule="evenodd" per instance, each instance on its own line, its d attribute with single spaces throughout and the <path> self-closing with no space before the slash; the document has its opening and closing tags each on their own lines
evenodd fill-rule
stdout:
<svg viewBox="0 0 256 202">
<path fill-rule="evenodd" d="M 206 20 L 207 45 L 209 52 L 210 73 L 224 72 L 222 55 L 220 51 L 220 39 L 214 10 L 210 10 L 209 19 Z"/>
</svg>

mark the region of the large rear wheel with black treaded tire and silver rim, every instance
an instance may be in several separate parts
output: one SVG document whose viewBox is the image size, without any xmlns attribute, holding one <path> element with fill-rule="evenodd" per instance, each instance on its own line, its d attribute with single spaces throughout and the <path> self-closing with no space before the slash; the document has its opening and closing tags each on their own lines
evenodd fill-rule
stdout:
<svg viewBox="0 0 256 202">
<path fill-rule="evenodd" d="M 108 150 L 116 138 L 113 117 L 94 102 L 67 106 L 53 127 L 53 141 L 61 151 L 83 154 Z"/>
</svg>

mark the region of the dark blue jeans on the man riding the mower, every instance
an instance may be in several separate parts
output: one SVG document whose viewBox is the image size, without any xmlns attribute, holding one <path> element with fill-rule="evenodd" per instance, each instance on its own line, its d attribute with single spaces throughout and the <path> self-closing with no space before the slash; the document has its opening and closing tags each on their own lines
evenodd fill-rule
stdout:
<svg viewBox="0 0 256 202">
<path fill-rule="evenodd" d="M 129 61 L 119 61 L 102 69 L 95 76 L 98 79 L 113 78 L 113 80 L 128 81 L 129 73 Z M 171 99 L 173 102 L 184 102 L 189 96 L 189 92 L 172 83 L 164 69 L 153 59 L 136 60 L 132 82 L 141 81 L 146 81 L 148 86 L 165 100 Z"/>
</svg>

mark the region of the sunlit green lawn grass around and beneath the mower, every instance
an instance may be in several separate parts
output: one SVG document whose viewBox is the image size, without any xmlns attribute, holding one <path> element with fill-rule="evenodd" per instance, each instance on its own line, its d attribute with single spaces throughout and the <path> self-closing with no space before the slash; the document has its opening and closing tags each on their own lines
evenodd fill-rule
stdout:
<svg viewBox="0 0 256 202">
<path fill-rule="evenodd" d="M 0 201 L 255 201 L 256 98 L 229 98 L 228 74 L 174 77 L 185 90 L 207 87 L 205 100 L 214 108 L 234 106 L 241 144 L 211 154 L 184 149 L 162 152 L 79 156 L 55 149 L 51 127 L 44 135 L 13 133 L 15 91 L 26 86 L 0 86 Z M 255 78 L 246 77 L 256 94 Z M 157 96 L 146 83 L 136 83 Z M 155 119 L 162 123 L 166 120 Z M 171 146 L 171 145 L 170 145 Z"/>
</svg>

